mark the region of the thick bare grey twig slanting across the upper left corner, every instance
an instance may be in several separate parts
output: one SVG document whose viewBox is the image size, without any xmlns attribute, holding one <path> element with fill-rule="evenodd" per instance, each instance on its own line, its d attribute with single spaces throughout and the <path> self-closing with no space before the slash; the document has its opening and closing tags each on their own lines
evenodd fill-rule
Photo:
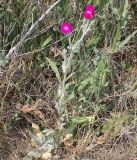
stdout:
<svg viewBox="0 0 137 160">
<path fill-rule="evenodd" d="M 6 55 L 6 60 L 9 62 L 13 56 L 16 56 L 18 53 L 19 48 L 23 45 L 25 40 L 33 33 L 33 31 L 37 28 L 38 24 L 49 14 L 49 12 L 58 4 L 61 0 L 56 1 L 53 5 L 50 6 L 50 8 L 41 15 L 41 17 L 29 28 L 29 30 L 26 32 L 26 34 L 20 39 L 20 41 L 13 46 L 8 54 Z"/>
</svg>

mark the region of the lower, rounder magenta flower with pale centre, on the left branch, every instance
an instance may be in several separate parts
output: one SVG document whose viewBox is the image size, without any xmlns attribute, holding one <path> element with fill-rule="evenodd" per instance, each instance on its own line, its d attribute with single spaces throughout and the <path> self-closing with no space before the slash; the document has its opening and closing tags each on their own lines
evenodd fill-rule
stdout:
<svg viewBox="0 0 137 160">
<path fill-rule="evenodd" d="M 62 23 L 61 26 L 60 26 L 60 31 L 63 33 L 63 34 L 69 34 L 71 33 L 73 30 L 73 27 L 71 26 L 70 23 L 68 22 L 65 22 L 65 23 Z"/>
</svg>

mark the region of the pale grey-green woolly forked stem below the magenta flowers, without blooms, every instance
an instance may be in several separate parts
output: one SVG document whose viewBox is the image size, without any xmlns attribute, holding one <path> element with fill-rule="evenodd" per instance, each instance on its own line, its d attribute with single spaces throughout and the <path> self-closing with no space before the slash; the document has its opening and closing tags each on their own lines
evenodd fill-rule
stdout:
<svg viewBox="0 0 137 160">
<path fill-rule="evenodd" d="M 81 36 L 81 38 L 72 45 L 71 42 L 71 37 L 69 37 L 69 57 L 67 57 L 67 50 L 63 51 L 63 57 L 64 57 L 64 61 L 62 64 L 62 70 L 63 70 L 63 80 L 62 83 L 59 87 L 60 93 L 59 93 L 59 102 L 58 102 L 58 114 L 59 114 L 59 131 L 60 133 L 63 131 L 63 124 L 64 122 L 68 121 L 68 114 L 67 114 L 67 110 L 66 110 L 66 101 L 65 101 L 65 96 L 66 96 L 66 81 L 67 81 L 67 76 L 70 72 L 70 68 L 71 68 L 71 63 L 73 60 L 73 56 L 74 53 L 77 51 L 77 49 L 80 48 L 84 37 L 87 35 L 87 33 L 90 31 L 90 27 L 91 24 L 93 24 L 93 22 L 90 21 L 84 21 L 83 26 L 82 26 L 82 31 L 83 34 Z M 60 134 L 61 135 L 61 134 Z"/>
</svg>

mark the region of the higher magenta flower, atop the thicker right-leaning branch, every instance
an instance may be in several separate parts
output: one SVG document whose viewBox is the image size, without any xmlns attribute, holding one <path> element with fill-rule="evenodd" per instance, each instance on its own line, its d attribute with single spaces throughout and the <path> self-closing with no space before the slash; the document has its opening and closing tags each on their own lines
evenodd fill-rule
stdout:
<svg viewBox="0 0 137 160">
<path fill-rule="evenodd" d="M 94 17 L 94 14 L 95 14 L 94 7 L 92 5 L 86 5 L 86 8 L 83 12 L 83 17 L 85 19 L 91 19 Z"/>
</svg>

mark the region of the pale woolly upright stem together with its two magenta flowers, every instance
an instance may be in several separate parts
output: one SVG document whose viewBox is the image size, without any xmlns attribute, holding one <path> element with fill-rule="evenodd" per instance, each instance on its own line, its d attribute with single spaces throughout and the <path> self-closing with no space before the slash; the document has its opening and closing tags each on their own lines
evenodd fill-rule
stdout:
<svg viewBox="0 0 137 160">
<path fill-rule="evenodd" d="M 90 21 L 94 17 L 94 7 L 92 5 L 86 5 L 85 10 L 83 11 L 83 24 L 80 27 L 80 30 L 82 31 L 81 36 L 79 39 L 77 39 L 74 44 L 71 41 L 72 36 L 71 35 L 73 31 L 73 27 L 69 22 L 64 22 L 60 25 L 60 32 L 64 35 L 67 35 L 69 39 L 69 49 L 63 49 L 62 55 L 63 55 L 63 63 L 62 63 L 62 79 L 59 83 L 58 87 L 58 103 L 56 104 L 56 108 L 58 110 L 58 130 L 60 133 L 60 136 L 63 133 L 64 124 L 66 124 L 69 121 L 69 117 L 67 114 L 66 109 L 66 100 L 67 100 L 67 86 L 68 85 L 68 77 L 71 75 L 71 65 L 73 61 L 74 54 L 78 51 L 81 44 L 83 43 L 83 39 L 87 35 L 87 33 L 90 31 L 91 26 L 94 22 Z M 61 137 L 60 137 L 61 138 Z"/>
</svg>

